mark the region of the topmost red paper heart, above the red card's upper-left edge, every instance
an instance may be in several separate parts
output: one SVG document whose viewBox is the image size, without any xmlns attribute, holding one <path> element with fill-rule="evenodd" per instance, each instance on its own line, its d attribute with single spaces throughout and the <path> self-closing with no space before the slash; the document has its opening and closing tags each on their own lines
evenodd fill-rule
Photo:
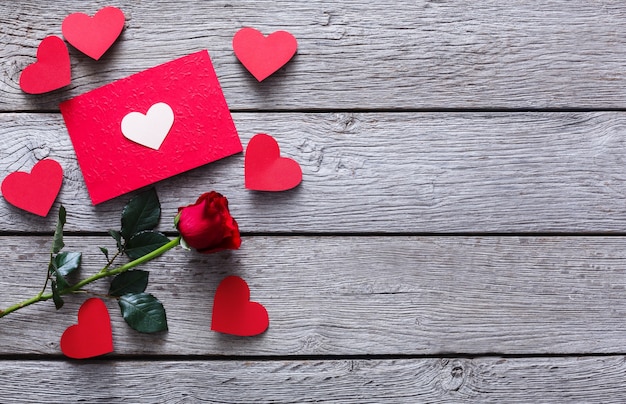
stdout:
<svg viewBox="0 0 626 404">
<path fill-rule="evenodd" d="M 61 24 L 61 31 L 72 46 L 98 60 L 120 36 L 124 21 L 122 10 L 105 7 L 93 17 L 83 13 L 68 15 Z"/>
</svg>

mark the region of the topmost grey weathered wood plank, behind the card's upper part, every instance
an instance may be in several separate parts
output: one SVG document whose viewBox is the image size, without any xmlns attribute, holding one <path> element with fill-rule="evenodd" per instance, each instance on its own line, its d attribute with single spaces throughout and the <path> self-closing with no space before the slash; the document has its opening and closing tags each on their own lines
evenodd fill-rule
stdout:
<svg viewBox="0 0 626 404">
<path fill-rule="evenodd" d="M 28 96 L 19 74 L 63 18 L 95 1 L 3 2 L 0 110 L 57 109 L 62 99 L 208 49 L 231 108 L 624 108 L 621 1 L 118 1 L 115 47 L 95 62 L 71 49 L 68 89 Z M 237 62 L 243 26 L 299 40 L 295 60 L 262 84 Z"/>
</svg>

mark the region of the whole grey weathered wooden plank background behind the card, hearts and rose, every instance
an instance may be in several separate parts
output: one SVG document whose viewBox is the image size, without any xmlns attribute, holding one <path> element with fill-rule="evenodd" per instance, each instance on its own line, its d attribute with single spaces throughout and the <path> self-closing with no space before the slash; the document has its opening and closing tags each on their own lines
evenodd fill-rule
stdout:
<svg viewBox="0 0 626 404">
<path fill-rule="evenodd" d="M 70 47 L 69 87 L 22 93 L 39 42 L 106 5 L 0 5 L 0 174 L 65 169 L 48 218 L 0 201 L 0 307 L 40 288 L 60 204 L 89 274 L 128 201 L 90 204 L 62 100 L 208 49 L 244 145 L 272 134 L 304 181 L 247 191 L 240 154 L 158 183 L 161 230 L 215 189 L 241 250 L 144 267 L 170 330 L 138 334 L 110 301 L 99 359 L 59 350 L 82 295 L 0 319 L 1 401 L 623 402 L 626 3 L 118 1 L 100 61 Z M 298 54 L 259 84 L 232 52 L 244 26 L 290 31 Z M 210 331 L 230 274 L 265 334 Z"/>
</svg>

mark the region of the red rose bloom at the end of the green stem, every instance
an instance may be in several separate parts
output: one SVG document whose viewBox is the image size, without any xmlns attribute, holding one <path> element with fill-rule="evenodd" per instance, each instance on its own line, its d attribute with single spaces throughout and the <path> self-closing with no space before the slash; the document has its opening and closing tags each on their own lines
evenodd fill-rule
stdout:
<svg viewBox="0 0 626 404">
<path fill-rule="evenodd" d="M 228 200 L 215 191 L 202 194 L 193 205 L 178 208 L 176 227 L 187 245 L 203 254 L 236 250 L 241 245 Z"/>
</svg>

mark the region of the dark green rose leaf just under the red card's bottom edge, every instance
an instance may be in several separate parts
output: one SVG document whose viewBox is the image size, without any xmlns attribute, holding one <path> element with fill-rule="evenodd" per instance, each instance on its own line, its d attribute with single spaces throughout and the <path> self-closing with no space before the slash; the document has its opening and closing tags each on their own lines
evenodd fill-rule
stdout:
<svg viewBox="0 0 626 404">
<path fill-rule="evenodd" d="M 122 237 L 128 241 L 142 230 L 152 230 L 161 217 L 161 204 L 156 190 L 150 188 L 128 202 L 122 211 Z"/>
</svg>

